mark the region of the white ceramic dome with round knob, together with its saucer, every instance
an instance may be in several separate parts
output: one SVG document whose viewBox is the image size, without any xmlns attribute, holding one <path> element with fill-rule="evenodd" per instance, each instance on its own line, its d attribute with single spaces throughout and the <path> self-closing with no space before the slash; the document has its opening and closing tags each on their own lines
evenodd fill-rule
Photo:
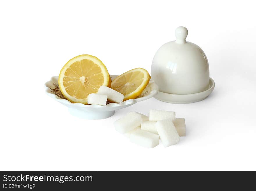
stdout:
<svg viewBox="0 0 256 191">
<path fill-rule="evenodd" d="M 186 42 L 188 30 L 175 30 L 176 40 L 161 46 L 155 54 L 151 77 L 159 86 L 156 99 L 169 103 L 193 103 L 205 99 L 214 89 L 204 51 Z"/>
</svg>

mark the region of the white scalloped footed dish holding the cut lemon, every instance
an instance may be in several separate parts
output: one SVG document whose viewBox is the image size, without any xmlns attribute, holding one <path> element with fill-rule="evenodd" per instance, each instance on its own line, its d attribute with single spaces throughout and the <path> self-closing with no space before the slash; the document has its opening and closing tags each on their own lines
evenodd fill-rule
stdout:
<svg viewBox="0 0 256 191">
<path fill-rule="evenodd" d="M 110 77 L 111 80 L 113 80 L 117 77 L 117 75 L 110 75 Z M 58 76 L 51 77 L 51 80 L 45 83 L 45 91 L 48 96 L 67 106 L 70 113 L 76 117 L 84 119 L 105 119 L 114 115 L 115 110 L 126 108 L 139 101 L 154 97 L 158 92 L 158 86 L 153 80 L 150 80 L 149 84 L 138 98 L 129 99 L 122 103 L 107 103 L 105 106 L 96 104 L 84 105 L 82 103 L 71 103 L 65 99 L 61 93 L 58 85 Z"/>
</svg>

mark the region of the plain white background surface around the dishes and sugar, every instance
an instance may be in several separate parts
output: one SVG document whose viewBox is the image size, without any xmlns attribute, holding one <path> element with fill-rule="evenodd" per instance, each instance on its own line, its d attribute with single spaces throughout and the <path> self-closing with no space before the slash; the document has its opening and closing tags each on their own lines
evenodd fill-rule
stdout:
<svg viewBox="0 0 256 191">
<path fill-rule="evenodd" d="M 256 170 L 253 1 L 1 1 L 1 170 Z M 44 83 L 74 56 L 110 74 L 143 67 L 185 26 L 206 53 L 216 87 L 205 100 L 154 98 L 103 120 L 73 117 Z M 114 130 L 129 111 L 176 111 L 187 136 L 139 147 Z"/>
</svg>

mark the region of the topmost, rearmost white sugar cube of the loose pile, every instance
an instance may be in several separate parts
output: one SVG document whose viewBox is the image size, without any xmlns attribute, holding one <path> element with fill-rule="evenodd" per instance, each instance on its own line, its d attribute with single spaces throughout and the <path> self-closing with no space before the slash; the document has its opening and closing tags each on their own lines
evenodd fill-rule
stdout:
<svg viewBox="0 0 256 191">
<path fill-rule="evenodd" d="M 162 111 L 162 110 L 150 110 L 148 119 L 149 121 L 160 121 L 163 119 L 171 118 L 172 121 L 175 119 L 174 111 Z"/>
</svg>

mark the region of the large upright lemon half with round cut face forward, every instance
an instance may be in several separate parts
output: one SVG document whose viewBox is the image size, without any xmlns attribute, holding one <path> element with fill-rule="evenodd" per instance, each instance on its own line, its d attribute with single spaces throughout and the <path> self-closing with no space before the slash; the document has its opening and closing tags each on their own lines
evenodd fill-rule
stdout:
<svg viewBox="0 0 256 191">
<path fill-rule="evenodd" d="M 87 104 L 89 94 L 97 93 L 101 85 L 111 86 L 111 78 L 102 61 L 84 54 L 63 66 L 58 83 L 63 96 L 69 101 Z"/>
</svg>

